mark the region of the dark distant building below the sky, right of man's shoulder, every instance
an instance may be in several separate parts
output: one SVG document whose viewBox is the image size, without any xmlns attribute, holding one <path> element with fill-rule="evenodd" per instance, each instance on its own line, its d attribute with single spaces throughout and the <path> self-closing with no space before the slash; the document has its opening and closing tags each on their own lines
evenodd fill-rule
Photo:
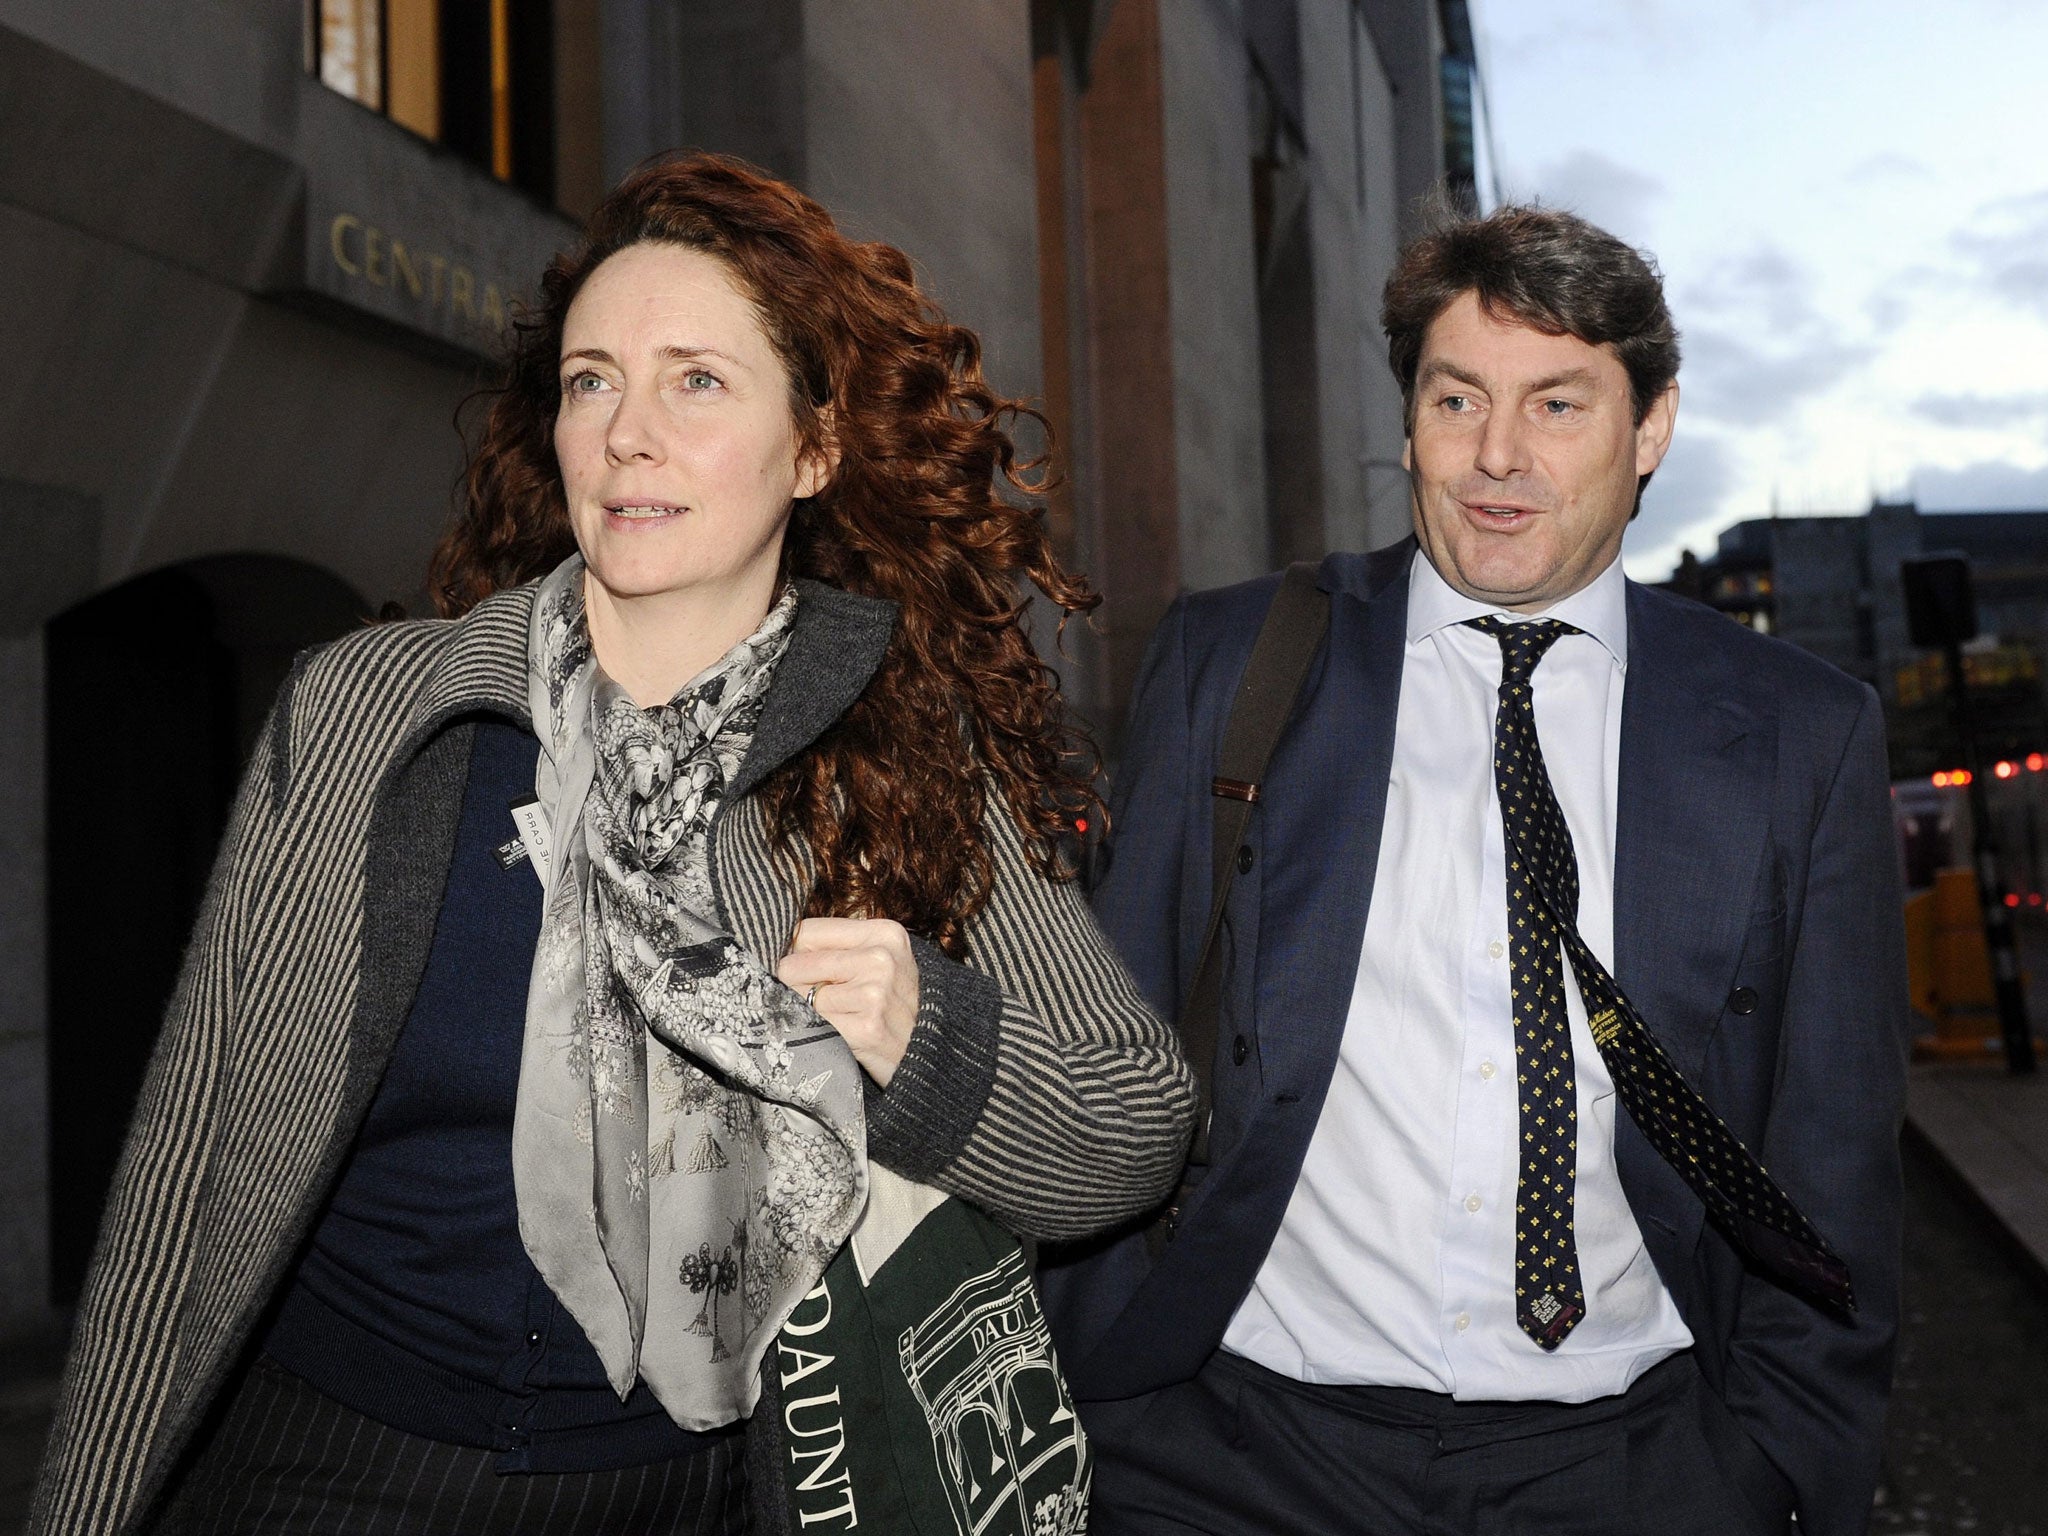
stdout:
<svg viewBox="0 0 2048 1536">
<path fill-rule="evenodd" d="M 1978 639 L 1970 698 L 1987 762 L 2048 752 L 2048 512 L 1921 512 L 1876 502 L 1866 516 L 1751 518 L 1710 559 L 1688 551 L 1667 586 L 1821 655 L 1878 690 L 1892 776 L 1958 766 L 1939 653 L 1907 633 L 1898 563 L 1970 559 Z"/>
</svg>

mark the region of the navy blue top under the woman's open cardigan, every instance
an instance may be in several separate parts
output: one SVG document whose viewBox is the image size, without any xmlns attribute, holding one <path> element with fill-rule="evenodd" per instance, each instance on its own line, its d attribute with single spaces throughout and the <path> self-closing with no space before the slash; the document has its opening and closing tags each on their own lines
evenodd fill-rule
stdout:
<svg viewBox="0 0 2048 1536">
<path fill-rule="evenodd" d="M 541 743 L 483 723 L 434 946 L 383 1083 L 264 1350 L 365 1417 L 500 1452 L 500 1473 L 686 1456 L 643 1384 L 621 1403 L 518 1235 L 512 1108 L 541 881 L 500 848 Z"/>
</svg>

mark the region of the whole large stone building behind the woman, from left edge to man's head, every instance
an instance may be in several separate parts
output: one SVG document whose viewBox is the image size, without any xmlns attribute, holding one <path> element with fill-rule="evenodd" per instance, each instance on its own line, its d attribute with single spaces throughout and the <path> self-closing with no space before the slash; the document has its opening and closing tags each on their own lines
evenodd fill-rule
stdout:
<svg viewBox="0 0 2048 1536">
<path fill-rule="evenodd" d="M 903 246 L 1057 434 L 1114 731 L 1171 598 L 1407 528 L 1378 291 L 1464 0 L 0 0 L 0 1341 L 76 1294 L 291 655 L 414 610 L 453 416 L 672 147 Z"/>
</svg>

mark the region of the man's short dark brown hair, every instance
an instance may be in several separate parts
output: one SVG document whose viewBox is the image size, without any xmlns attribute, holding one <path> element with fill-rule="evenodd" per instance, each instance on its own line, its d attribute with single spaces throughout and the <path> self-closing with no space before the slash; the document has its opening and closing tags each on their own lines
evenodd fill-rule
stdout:
<svg viewBox="0 0 2048 1536">
<path fill-rule="evenodd" d="M 1386 279 L 1380 326 L 1409 426 L 1423 334 L 1462 293 L 1497 319 L 1612 346 L 1638 424 L 1677 377 L 1677 328 L 1657 264 L 1575 213 L 1509 203 L 1485 219 L 1438 219 Z"/>
</svg>

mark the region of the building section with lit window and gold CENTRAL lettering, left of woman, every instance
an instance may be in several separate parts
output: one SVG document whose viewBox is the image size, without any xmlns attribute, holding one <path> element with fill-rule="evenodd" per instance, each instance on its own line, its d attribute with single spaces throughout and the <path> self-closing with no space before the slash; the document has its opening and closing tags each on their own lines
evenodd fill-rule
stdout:
<svg viewBox="0 0 2048 1536">
<path fill-rule="evenodd" d="M 0 1341 L 78 1290 L 291 655 L 418 602 L 602 184 L 586 10 L 0 0 Z"/>
</svg>

